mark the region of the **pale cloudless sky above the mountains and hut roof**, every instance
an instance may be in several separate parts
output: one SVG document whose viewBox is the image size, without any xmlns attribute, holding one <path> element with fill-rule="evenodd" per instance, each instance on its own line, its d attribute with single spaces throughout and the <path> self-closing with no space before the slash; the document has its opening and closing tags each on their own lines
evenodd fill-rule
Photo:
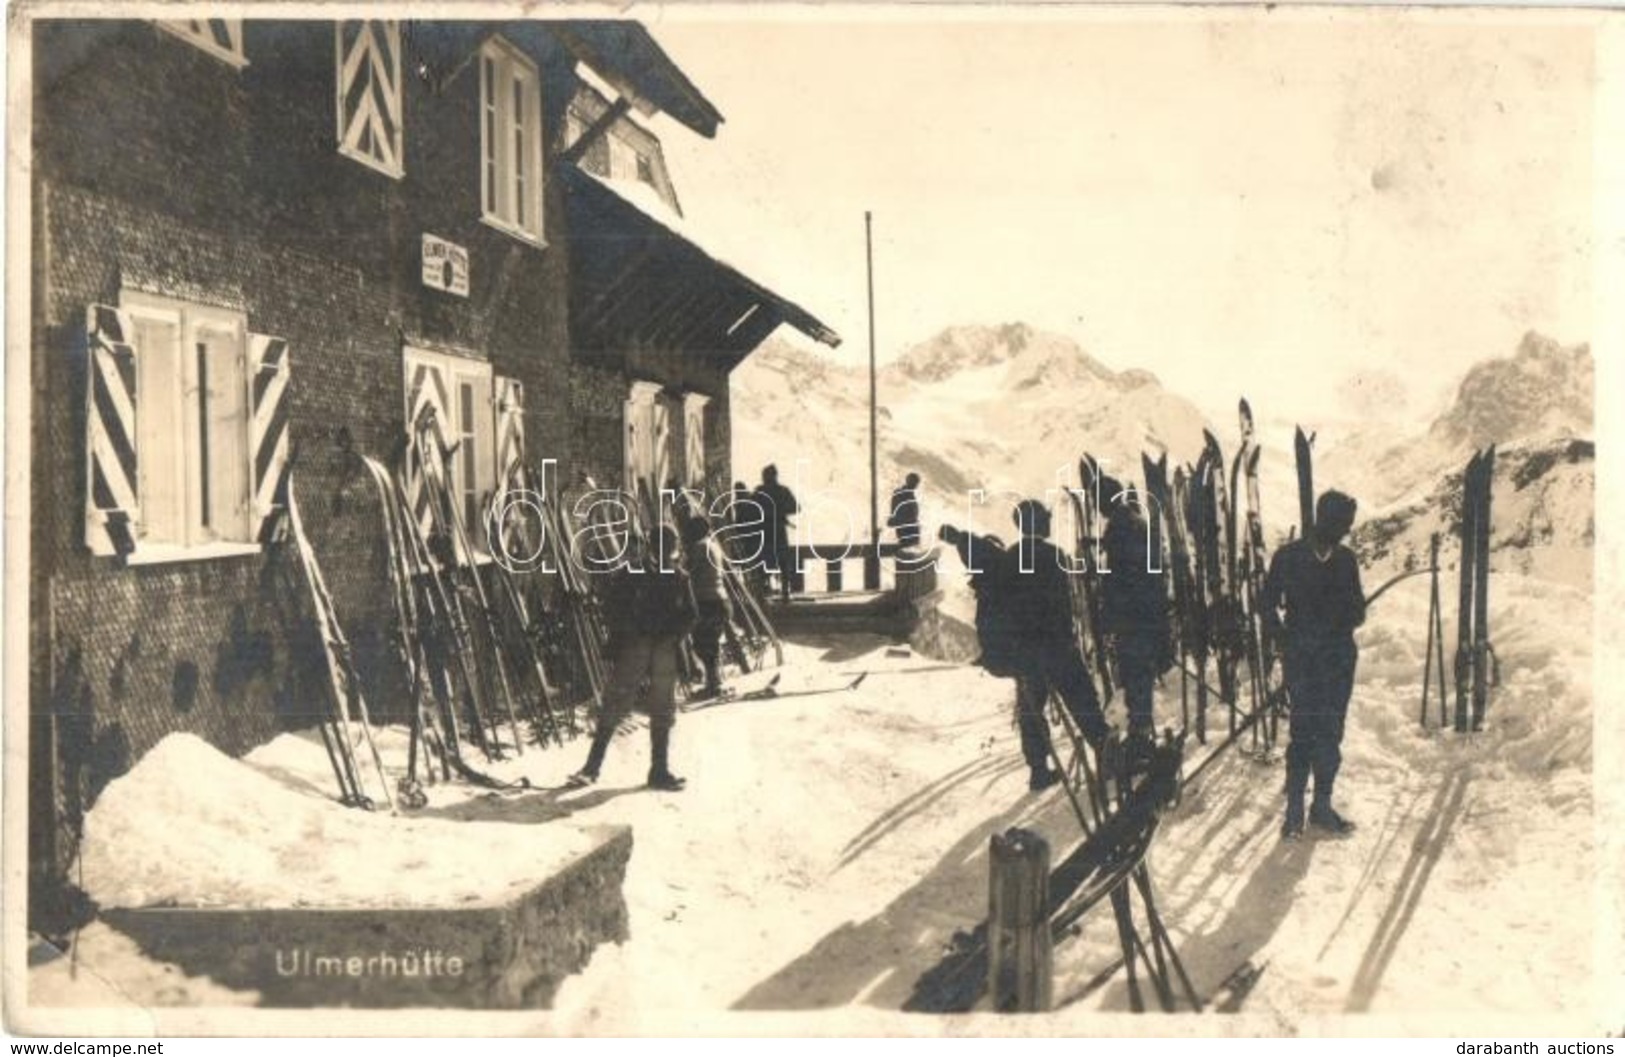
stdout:
<svg viewBox="0 0 1625 1057">
<path fill-rule="evenodd" d="M 1350 15 L 644 21 L 726 117 L 655 122 L 687 218 L 850 361 L 873 210 L 881 361 L 1020 320 L 1204 408 L 1386 369 L 1420 420 L 1591 337 L 1592 33 Z"/>
</svg>

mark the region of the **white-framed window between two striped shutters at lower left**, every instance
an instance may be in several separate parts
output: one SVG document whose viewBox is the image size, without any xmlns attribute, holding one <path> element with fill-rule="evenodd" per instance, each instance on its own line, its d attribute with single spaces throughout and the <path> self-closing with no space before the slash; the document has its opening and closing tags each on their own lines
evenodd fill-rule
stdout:
<svg viewBox="0 0 1625 1057">
<path fill-rule="evenodd" d="M 150 294 L 122 306 L 135 332 L 138 550 L 250 542 L 242 314 Z"/>
</svg>

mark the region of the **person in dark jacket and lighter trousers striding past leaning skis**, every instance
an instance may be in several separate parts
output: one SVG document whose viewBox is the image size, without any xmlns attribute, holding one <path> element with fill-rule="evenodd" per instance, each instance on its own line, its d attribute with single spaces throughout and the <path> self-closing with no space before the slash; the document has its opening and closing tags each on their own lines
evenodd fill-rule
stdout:
<svg viewBox="0 0 1625 1057">
<path fill-rule="evenodd" d="M 616 727 L 634 709 L 648 714 L 648 785 L 673 792 L 684 785 L 671 772 L 670 751 L 678 717 L 678 642 L 692 628 L 696 607 L 676 528 L 661 525 L 655 546 L 642 571 L 616 574 L 609 685 L 587 764 L 570 776 L 570 785 L 598 781 Z"/>
</svg>

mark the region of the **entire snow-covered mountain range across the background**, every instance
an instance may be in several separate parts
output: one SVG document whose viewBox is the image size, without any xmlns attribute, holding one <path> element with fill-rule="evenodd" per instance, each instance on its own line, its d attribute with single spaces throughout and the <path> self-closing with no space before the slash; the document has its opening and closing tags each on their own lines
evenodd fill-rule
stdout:
<svg viewBox="0 0 1625 1057">
<path fill-rule="evenodd" d="M 1462 377 L 1454 400 L 1415 434 L 1376 408 L 1402 397 L 1391 377 L 1349 382 L 1368 398 L 1370 424 L 1326 424 L 1315 450 L 1316 489 L 1360 499 L 1355 545 L 1373 572 L 1419 568 L 1428 538 L 1443 537 L 1454 563 L 1461 470 L 1500 444 L 1493 489 L 1495 561 L 1589 585 L 1594 533 L 1592 359 L 1528 333 L 1511 356 Z M 1358 392 L 1355 392 L 1358 390 Z M 1370 392 L 1367 392 L 1370 390 Z M 783 341 L 769 341 L 733 376 L 734 465 L 754 483 L 777 462 L 808 511 L 801 530 L 819 540 L 861 540 L 868 522 L 868 376 Z M 1139 480 L 1139 454 L 1168 450 L 1194 460 L 1202 428 L 1230 457 L 1237 423 L 1211 424 L 1196 407 L 1138 369 L 1115 371 L 1072 340 L 1025 324 L 947 327 L 887 364 L 879 376 L 881 517 L 908 470 L 925 478 L 926 522 L 973 522 L 1003 532 L 994 511 L 970 514 L 972 489 L 1043 493 L 1077 480 L 1092 452 L 1118 476 Z M 1254 408 L 1266 533 L 1297 522 L 1290 408 Z M 1313 423 L 1306 423 L 1313 428 Z M 845 519 L 845 520 L 842 520 Z M 850 528 L 845 528 L 850 525 Z"/>
</svg>

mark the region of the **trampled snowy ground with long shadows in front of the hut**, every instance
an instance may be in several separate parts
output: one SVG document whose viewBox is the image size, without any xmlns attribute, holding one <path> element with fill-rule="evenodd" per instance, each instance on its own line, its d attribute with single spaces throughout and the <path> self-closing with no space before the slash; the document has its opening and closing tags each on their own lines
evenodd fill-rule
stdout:
<svg viewBox="0 0 1625 1057">
<path fill-rule="evenodd" d="M 1412 1028 L 1454 1015 L 1458 1031 L 1493 1013 L 1568 1013 L 1571 1031 L 1596 1026 L 1592 981 L 1617 976 L 1597 972 L 1606 966 L 1594 943 L 1617 950 L 1617 937 L 1596 935 L 1596 922 L 1615 919 L 1596 917 L 1592 899 L 1618 868 L 1599 876 L 1592 833 L 1591 642 L 1563 633 L 1591 600 L 1500 577 L 1492 620 L 1503 686 L 1488 730 L 1464 738 L 1417 724 L 1427 589 L 1425 579 L 1415 584 L 1384 595 L 1362 629 L 1339 784 L 1341 808 L 1360 823 L 1354 839 L 1279 844 L 1279 764 L 1230 755 L 1188 790 L 1152 850 L 1164 916 L 1198 990 L 1211 992 L 1245 961 L 1264 966 L 1242 1003 L 1251 1016 L 1232 1021 L 1253 1029 L 1339 1029 L 1320 1018 L 1342 1013 L 1394 1015 Z M 855 691 L 686 712 L 674 738 L 674 768 L 691 782 L 682 794 L 644 789 L 642 732 L 616 742 L 593 789 L 486 797 L 436 787 L 411 821 L 354 821 L 354 811 L 323 802 L 318 790 L 332 779 L 314 742 L 284 737 L 247 764 L 221 766 L 242 769 L 250 785 L 275 785 L 283 811 L 309 833 L 359 841 L 353 860 L 440 824 L 466 836 L 429 839 L 424 855 L 484 846 L 499 862 L 515 847 L 561 847 L 575 823 L 632 824 L 632 938 L 600 948 L 566 984 L 557 1026 L 682 1031 L 715 1026 L 708 1015 L 725 1010 L 834 1010 L 826 1029 L 848 1031 L 962 1026 L 879 1018 L 902 1007 L 956 930 L 983 917 L 991 834 L 1032 826 L 1058 855 L 1076 842 L 1066 800 L 1027 792 L 1009 683 L 878 642 L 801 644 L 790 654 L 785 691 L 838 686 L 858 672 L 869 678 Z M 1178 685 L 1170 689 L 1164 719 L 1178 714 Z M 385 759 L 405 759 L 400 738 L 384 733 Z M 531 751 L 500 772 L 556 787 L 583 751 Z M 174 805 L 169 821 L 190 824 L 187 810 Z M 143 878 L 148 896 L 161 890 L 161 863 L 141 859 L 143 842 L 114 847 L 125 860 L 120 876 Z M 312 836 L 306 854 L 320 862 L 336 852 Z M 406 860 L 388 852 L 379 862 L 395 875 L 380 876 L 379 890 L 398 893 Z M 312 872 L 320 868 L 294 873 Z M 106 891 L 120 891 L 114 870 L 106 878 Z M 249 880 L 216 875 L 223 891 Z M 1081 1018 L 1128 1008 L 1120 977 L 1081 994 L 1113 956 L 1107 917 L 1056 948 L 1055 990 L 1066 1003 L 1056 1016 L 1066 1024 L 1092 1029 L 1100 1021 Z M 81 935 L 78 963 L 76 976 L 65 958 L 36 968 L 32 1000 L 99 1005 L 98 989 L 109 984 L 98 977 L 148 1005 L 252 1000 L 154 966 L 99 924 Z M 751 1023 L 770 1031 L 780 1021 Z"/>
</svg>

